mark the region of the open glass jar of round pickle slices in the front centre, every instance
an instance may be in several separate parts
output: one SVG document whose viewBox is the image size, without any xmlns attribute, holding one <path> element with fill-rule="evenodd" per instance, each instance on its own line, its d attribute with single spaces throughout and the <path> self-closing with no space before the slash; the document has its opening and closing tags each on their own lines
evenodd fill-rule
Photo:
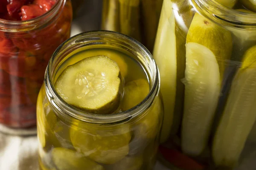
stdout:
<svg viewBox="0 0 256 170">
<path fill-rule="evenodd" d="M 78 34 L 49 61 L 37 102 L 41 170 L 151 170 L 163 119 L 157 65 L 111 31 Z"/>
</svg>

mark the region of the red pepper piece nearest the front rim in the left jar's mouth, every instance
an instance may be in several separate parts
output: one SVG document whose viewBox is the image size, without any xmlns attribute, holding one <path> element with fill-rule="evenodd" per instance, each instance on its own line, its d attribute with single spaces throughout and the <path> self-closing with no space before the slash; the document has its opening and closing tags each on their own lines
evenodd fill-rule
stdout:
<svg viewBox="0 0 256 170">
<path fill-rule="evenodd" d="M 43 15 L 45 12 L 38 6 L 30 4 L 28 6 L 22 6 L 21 10 L 21 20 L 31 20 L 33 18 Z"/>
</svg>

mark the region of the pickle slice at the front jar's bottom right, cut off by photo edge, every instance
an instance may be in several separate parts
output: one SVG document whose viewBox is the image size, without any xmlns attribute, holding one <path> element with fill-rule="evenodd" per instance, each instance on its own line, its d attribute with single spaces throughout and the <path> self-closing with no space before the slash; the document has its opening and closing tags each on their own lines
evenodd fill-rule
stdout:
<svg viewBox="0 0 256 170">
<path fill-rule="evenodd" d="M 143 156 L 125 156 L 115 164 L 105 166 L 105 170 L 141 170 Z"/>
</svg>

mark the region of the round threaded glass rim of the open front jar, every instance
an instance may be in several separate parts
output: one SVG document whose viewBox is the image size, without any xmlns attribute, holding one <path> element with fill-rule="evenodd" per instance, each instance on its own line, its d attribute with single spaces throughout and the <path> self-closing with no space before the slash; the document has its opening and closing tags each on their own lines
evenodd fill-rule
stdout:
<svg viewBox="0 0 256 170">
<path fill-rule="evenodd" d="M 73 107 L 72 105 L 69 105 L 67 102 L 65 102 L 61 96 L 55 91 L 54 88 L 54 82 L 52 79 L 52 72 L 53 72 L 53 63 L 58 59 L 58 57 L 61 56 L 61 54 L 64 54 L 65 50 L 68 48 L 72 48 L 76 44 L 83 44 L 88 43 L 88 45 L 92 45 L 92 41 L 98 41 L 102 37 L 103 40 L 105 39 L 111 39 L 111 40 L 118 40 L 123 45 L 131 45 L 134 47 L 134 49 L 137 49 L 137 51 L 134 51 L 134 54 L 140 53 L 144 57 L 146 57 L 149 61 L 149 65 L 151 67 L 151 75 L 149 79 L 151 79 L 151 88 L 148 95 L 141 101 L 138 105 L 134 106 L 133 108 L 115 113 L 115 114 L 93 114 L 88 113 L 85 111 L 81 111 L 78 108 Z M 98 42 L 96 42 L 98 43 Z M 125 44 L 126 43 L 126 44 Z M 71 51 L 72 52 L 72 51 Z M 128 121 L 134 116 L 140 115 L 145 111 L 150 105 L 155 102 L 156 96 L 159 94 L 160 90 L 160 77 L 159 77 L 159 71 L 157 68 L 157 65 L 151 55 L 151 53 L 137 40 L 128 37 L 121 33 L 116 33 L 113 31 L 88 31 L 81 34 L 77 34 L 70 39 L 63 42 L 53 53 L 51 59 L 49 60 L 49 64 L 47 66 L 46 72 L 45 72 L 45 88 L 46 88 L 46 95 L 49 102 L 52 104 L 53 109 L 58 113 L 61 113 L 63 115 L 67 115 L 68 117 L 72 116 L 73 118 L 79 119 L 84 122 L 90 122 L 90 123 L 97 123 L 97 124 L 110 124 L 110 123 L 116 123 L 121 121 Z"/>
</svg>

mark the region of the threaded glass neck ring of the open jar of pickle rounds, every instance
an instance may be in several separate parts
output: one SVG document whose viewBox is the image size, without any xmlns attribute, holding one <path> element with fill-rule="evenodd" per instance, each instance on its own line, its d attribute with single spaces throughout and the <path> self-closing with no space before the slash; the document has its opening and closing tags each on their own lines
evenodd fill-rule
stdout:
<svg viewBox="0 0 256 170">
<path fill-rule="evenodd" d="M 105 45 L 112 50 L 118 51 L 118 49 L 122 49 L 128 51 L 143 65 L 150 80 L 150 92 L 145 99 L 134 108 L 111 115 L 87 113 L 66 103 L 55 91 L 55 75 L 61 64 L 71 55 L 76 54 L 76 51 L 79 52 L 79 50 L 81 51 L 81 49 L 88 47 L 98 48 L 99 45 Z M 90 31 L 71 37 L 56 49 L 45 73 L 45 88 L 47 99 L 52 109 L 57 112 L 57 114 L 65 116 L 66 120 L 70 119 L 71 121 L 73 117 L 84 122 L 110 124 L 128 121 L 149 108 L 152 103 L 155 102 L 159 94 L 160 78 L 157 65 L 152 55 L 140 42 L 112 31 Z"/>
</svg>

